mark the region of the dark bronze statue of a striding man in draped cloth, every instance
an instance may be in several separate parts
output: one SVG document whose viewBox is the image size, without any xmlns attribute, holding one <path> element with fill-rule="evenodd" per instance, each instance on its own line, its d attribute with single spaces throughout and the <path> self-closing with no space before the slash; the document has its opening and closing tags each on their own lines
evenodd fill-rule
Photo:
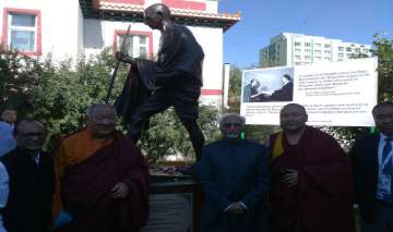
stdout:
<svg viewBox="0 0 393 232">
<path fill-rule="evenodd" d="M 132 65 L 116 107 L 128 124 L 128 135 L 136 143 L 148 118 L 174 106 L 199 160 L 204 144 L 196 123 L 203 50 L 186 26 L 170 20 L 165 4 L 148 7 L 144 23 L 162 33 L 157 60 L 131 59 L 117 52 L 118 60 Z"/>
</svg>

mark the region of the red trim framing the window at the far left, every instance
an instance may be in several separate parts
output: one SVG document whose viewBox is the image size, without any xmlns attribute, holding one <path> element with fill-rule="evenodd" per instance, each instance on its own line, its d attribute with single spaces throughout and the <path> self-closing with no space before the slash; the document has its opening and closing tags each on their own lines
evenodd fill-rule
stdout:
<svg viewBox="0 0 393 232">
<path fill-rule="evenodd" d="M 31 10 L 31 9 L 16 9 L 16 8 L 4 8 L 3 11 L 3 25 L 2 25 L 2 40 L 4 48 L 8 49 L 8 15 L 10 13 L 17 13 L 17 14 L 29 14 L 35 15 L 37 19 L 37 35 L 36 35 L 36 51 L 33 52 L 21 52 L 22 54 L 27 56 L 39 56 L 43 53 L 41 47 L 41 14 L 38 10 Z"/>
</svg>

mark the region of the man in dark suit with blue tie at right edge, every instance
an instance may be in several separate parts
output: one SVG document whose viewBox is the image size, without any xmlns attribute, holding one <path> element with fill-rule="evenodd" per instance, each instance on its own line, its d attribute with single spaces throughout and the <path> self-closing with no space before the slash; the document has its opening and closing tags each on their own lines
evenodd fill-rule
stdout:
<svg viewBox="0 0 393 232">
<path fill-rule="evenodd" d="M 377 105 L 372 115 L 380 133 L 356 141 L 350 150 L 356 203 L 362 232 L 392 232 L 393 102 Z"/>
</svg>

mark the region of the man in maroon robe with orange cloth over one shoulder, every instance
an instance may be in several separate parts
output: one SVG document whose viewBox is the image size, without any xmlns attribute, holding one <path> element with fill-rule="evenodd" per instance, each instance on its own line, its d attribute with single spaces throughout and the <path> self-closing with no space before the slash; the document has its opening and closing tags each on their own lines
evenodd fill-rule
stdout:
<svg viewBox="0 0 393 232">
<path fill-rule="evenodd" d="M 148 171 L 141 150 L 115 130 L 110 105 L 87 109 L 87 127 L 55 154 L 53 227 L 61 232 L 136 232 L 147 219 Z"/>
</svg>

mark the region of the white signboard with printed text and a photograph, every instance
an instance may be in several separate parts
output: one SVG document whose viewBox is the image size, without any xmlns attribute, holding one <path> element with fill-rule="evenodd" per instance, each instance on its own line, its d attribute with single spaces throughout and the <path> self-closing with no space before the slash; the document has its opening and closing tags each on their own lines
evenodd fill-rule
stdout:
<svg viewBox="0 0 393 232">
<path fill-rule="evenodd" d="M 247 124 L 279 124 L 289 102 L 306 107 L 310 125 L 372 126 L 377 58 L 245 70 L 240 114 Z"/>
</svg>

